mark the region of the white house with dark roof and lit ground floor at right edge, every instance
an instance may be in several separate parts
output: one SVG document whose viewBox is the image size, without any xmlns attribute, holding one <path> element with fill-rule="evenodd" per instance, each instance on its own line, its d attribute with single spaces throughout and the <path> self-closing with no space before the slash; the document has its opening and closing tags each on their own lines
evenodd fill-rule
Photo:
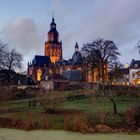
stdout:
<svg viewBox="0 0 140 140">
<path fill-rule="evenodd" d="M 132 60 L 129 66 L 130 86 L 140 86 L 140 60 Z"/>
</svg>

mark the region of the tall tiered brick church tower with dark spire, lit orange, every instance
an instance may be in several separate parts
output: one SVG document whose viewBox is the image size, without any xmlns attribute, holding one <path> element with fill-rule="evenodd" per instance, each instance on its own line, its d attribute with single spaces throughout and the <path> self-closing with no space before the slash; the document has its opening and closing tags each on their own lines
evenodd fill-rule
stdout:
<svg viewBox="0 0 140 140">
<path fill-rule="evenodd" d="M 44 55 L 49 56 L 52 63 L 62 60 L 62 42 L 59 41 L 59 33 L 56 30 L 54 17 L 52 17 L 50 24 L 48 40 L 45 42 Z"/>
</svg>

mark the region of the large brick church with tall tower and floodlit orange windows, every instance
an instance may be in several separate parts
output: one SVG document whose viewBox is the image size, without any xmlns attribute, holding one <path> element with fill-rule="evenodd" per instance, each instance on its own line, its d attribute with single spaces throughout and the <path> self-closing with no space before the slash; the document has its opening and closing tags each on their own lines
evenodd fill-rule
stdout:
<svg viewBox="0 0 140 140">
<path fill-rule="evenodd" d="M 84 61 L 77 42 L 74 47 L 73 56 L 64 60 L 62 41 L 59 40 L 55 19 L 52 17 L 48 38 L 44 43 L 44 55 L 35 55 L 32 62 L 28 63 L 27 76 L 35 83 L 48 80 L 48 76 L 61 77 L 60 79 L 65 78 L 68 81 L 97 83 L 100 79 L 98 69 L 91 69 Z M 105 74 L 107 75 L 107 66 Z"/>
</svg>

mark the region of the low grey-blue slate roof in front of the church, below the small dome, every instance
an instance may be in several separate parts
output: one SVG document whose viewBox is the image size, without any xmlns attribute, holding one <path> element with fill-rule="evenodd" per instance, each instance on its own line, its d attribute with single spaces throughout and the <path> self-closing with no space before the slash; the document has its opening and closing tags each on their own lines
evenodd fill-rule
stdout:
<svg viewBox="0 0 140 140">
<path fill-rule="evenodd" d="M 82 73 L 79 70 L 66 70 L 62 75 L 70 81 L 82 80 Z"/>
</svg>

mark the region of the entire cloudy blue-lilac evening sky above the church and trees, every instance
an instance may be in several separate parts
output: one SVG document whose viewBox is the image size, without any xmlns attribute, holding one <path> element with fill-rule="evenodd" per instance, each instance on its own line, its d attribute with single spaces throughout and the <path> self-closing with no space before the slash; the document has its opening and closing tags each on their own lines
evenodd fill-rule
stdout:
<svg viewBox="0 0 140 140">
<path fill-rule="evenodd" d="M 16 48 L 23 69 L 34 55 L 44 55 L 44 43 L 54 11 L 63 57 L 97 38 L 113 40 L 123 64 L 140 60 L 140 0 L 0 0 L 0 40 Z"/>
</svg>

